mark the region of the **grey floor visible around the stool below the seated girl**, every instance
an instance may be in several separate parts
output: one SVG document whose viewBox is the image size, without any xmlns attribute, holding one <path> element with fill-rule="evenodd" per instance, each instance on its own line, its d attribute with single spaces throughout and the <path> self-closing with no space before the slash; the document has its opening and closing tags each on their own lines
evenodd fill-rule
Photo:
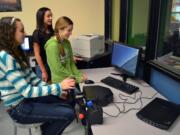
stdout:
<svg viewBox="0 0 180 135">
<path fill-rule="evenodd" d="M 12 121 L 8 114 L 5 112 L 5 108 L 0 103 L 0 135 L 14 135 L 14 128 Z M 32 134 L 35 135 L 34 130 Z M 76 120 L 64 131 L 63 135 L 84 135 L 84 127 L 77 123 Z M 29 135 L 27 129 L 18 128 L 17 135 Z"/>
</svg>

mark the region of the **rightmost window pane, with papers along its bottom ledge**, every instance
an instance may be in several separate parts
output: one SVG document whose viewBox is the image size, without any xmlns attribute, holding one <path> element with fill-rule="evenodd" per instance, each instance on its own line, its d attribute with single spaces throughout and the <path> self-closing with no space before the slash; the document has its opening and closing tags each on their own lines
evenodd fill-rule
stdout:
<svg viewBox="0 0 180 135">
<path fill-rule="evenodd" d="M 165 0 L 154 62 L 180 76 L 180 0 Z"/>
</svg>

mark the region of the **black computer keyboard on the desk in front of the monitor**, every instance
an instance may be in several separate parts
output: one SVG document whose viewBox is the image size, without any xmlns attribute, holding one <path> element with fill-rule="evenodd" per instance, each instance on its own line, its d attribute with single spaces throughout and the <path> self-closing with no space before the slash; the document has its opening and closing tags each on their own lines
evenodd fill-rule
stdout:
<svg viewBox="0 0 180 135">
<path fill-rule="evenodd" d="M 111 86 L 115 89 L 118 89 L 122 92 L 125 92 L 127 94 L 133 94 L 134 92 L 137 92 L 139 90 L 139 87 L 128 84 L 128 83 L 124 83 L 121 80 L 115 79 L 113 77 L 106 77 L 104 79 L 101 80 L 102 83 Z"/>
</svg>

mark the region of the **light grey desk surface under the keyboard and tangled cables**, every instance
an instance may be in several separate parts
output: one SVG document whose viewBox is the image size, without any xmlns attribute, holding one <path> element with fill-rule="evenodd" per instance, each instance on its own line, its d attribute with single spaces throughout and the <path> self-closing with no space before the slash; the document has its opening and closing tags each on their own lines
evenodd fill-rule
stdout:
<svg viewBox="0 0 180 135">
<path fill-rule="evenodd" d="M 122 101 L 118 97 L 118 94 L 121 93 L 123 95 L 127 95 L 119 90 L 116 90 L 110 86 L 107 86 L 100 82 L 101 79 L 112 76 L 114 78 L 121 79 L 119 76 L 111 75 L 110 73 L 117 73 L 117 71 L 110 67 L 110 68 L 96 68 L 96 69 L 86 69 L 82 70 L 82 72 L 86 73 L 88 76 L 88 79 L 95 81 L 96 83 L 93 85 L 101 85 L 105 87 L 109 87 L 112 92 L 114 93 L 114 101 Z M 127 80 L 128 83 L 133 84 L 135 86 L 138 86 L 140 90 L 142 91 L 143 97 L 152 97 L 156 91 L 149 86 L 147 83 L 143 81 L 137 81 L 137 80 Z M 85 84 L 81 84 L 84 86 Z M 92 85 L 92 84 L 91 84 Z M 132 95 L 133 97 L 134 95 Z M 137 93 L 137 98 L 140 96 L 140 92 Z M 157 94 L 155 97 L 162 97 L 160 94 Z M 132 99 L 128 99 L 128 101 L 132 101 Z M 152 101 L 152 99 L 143 99 L 143 106 L 145 106 L 147 103 Z M 120 109 L 123 109 L 122 104 L 117 104 Z M 134 105 L 126 105 L 126 110 L 128 108 L 139 108 L 141 106 L 140 101 L 138 101 Z M 103 111 L 111 114 L 116 115 L 118 113 L 117 108 L 110 104 L 107 107 L 103 108 Z M 138 110 L 132 110 L 125 114 L 120 114 L 119 117 L 113 118 L 110 116 L 107 116 L 106 114 L 103 114 L 104 117 L 104 123 L 102 125 L 92 125 L 92 132 L 94 135 L 179 135 L 180 134 L 180 117 L 175 121 L 175 123 L 171 126 L 169 130 L 161 130 L 156 127 L 153 127 L 141 120 L 139 120 L 136 117 L 136 113 Z"/>
</svg>

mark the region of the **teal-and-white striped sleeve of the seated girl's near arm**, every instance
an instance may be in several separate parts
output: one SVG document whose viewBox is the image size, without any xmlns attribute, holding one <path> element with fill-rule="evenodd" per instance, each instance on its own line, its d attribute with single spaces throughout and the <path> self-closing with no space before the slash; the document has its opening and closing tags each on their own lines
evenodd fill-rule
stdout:
<svg viewBox="0 0 180 135">
<path fill-rule="evenodd" d="M 34 98 L 47 95 L 57 95 L 61 94 L 60 83 L 51 84 L 47 86 L 33 86 L 29 84 L 26 79 L 22 76 L 21 72 L 18 70 L 7 70 L 6 78 L 9 82 L 13 84 L 16 90 L 21 93 L 25 98 Z"/>
</svg>

